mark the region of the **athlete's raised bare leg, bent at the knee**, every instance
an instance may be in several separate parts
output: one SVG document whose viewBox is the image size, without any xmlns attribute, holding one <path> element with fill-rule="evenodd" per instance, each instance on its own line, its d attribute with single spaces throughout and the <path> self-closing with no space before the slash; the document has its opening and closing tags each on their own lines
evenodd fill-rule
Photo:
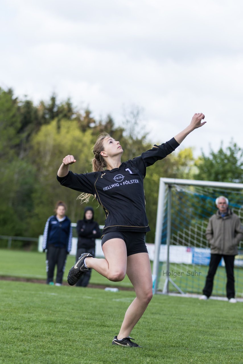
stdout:
<svg viewBox="0 0 243 364">
<path fill-rule="evenodd" d="M 105 259 L 86 258 L 87 268 L 93 268 L 110 281 L 122 281 L 126 275 L 126 244 L 122 239 L 110 239 L 103 244 Z"/>
</svg>

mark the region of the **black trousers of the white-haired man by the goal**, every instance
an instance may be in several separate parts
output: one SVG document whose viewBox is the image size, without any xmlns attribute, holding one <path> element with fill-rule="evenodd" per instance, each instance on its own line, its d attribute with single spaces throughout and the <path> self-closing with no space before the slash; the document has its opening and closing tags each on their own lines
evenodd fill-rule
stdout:
<svg viewBox="0 0 243 364">
<path fill-rule="evenodd" d="M 224 258 L 227 274 L 226 293 L 227 297 L 230 299 L 235 297 L 234 255 L 211 254 L 209 270 L 206 278 L 205 287 L 203 289 L 203 294 L 205 294 L 205 296 L 207 297 L 211 296 L 213 290 L 213 278 L 222 257 Z"/>
</svg>

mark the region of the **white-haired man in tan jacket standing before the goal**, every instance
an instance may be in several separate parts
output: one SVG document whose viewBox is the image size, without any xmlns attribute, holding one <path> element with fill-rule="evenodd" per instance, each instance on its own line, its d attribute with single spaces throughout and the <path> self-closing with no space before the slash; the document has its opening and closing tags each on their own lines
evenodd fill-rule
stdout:
<svg viewBox="0 0 243 364">
<path fill-rule="evenodd" d="M 229 302 L 236 303 L 234 260 L 235 255 L 238 254 L 238 243 L 243 239 L 243 228 L 239 217 L 228 208 L 228 199 L 226 197 L 216 198 L 215 203 L 218 210 L 209 219 L 205 233 L 211 247 L 211 259 L 203 296 L 200 297 L 200 300 L 207 300 L 211 296 L 213 278 L 223 257 L 227 273 L 227 297 Z"/>
</svg>

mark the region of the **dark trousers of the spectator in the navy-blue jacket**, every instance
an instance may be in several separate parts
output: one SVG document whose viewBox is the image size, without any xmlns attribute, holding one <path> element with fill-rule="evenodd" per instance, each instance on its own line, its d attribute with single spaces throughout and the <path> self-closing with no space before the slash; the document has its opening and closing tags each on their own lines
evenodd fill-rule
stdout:
<svg viewBox="0 0 243 364">
<path fill-rule="evenodd" d="M 52 245 L 48 246 L 46 253 L 47 284 L 49 282 L 53 282 L 55 265 L 57 266 L 56 283 L 62 284 L 66 259 L 67 259 L 66 248 L 56 248 L 55 246 Z"/>
</svg>

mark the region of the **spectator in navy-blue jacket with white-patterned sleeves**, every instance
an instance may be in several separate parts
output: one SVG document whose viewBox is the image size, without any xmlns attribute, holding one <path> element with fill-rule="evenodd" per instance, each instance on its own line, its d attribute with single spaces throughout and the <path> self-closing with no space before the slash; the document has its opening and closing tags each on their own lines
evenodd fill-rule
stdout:
<svg viewBox="0 0 243 364">
<path fill-rule="evenodd" d="M 46 253 L 47 284 L 54 284 L 54 269 L 56 271 L 56 286 L 62 285 L 67 254 L 71 250 L 72 228 L 71 221 L 65 215 L 67 206 L 63 201 L 58 201 L 55 206 L 55 215 L 48 218 L 43 234 L 43 251 Z"/>
</svg>

